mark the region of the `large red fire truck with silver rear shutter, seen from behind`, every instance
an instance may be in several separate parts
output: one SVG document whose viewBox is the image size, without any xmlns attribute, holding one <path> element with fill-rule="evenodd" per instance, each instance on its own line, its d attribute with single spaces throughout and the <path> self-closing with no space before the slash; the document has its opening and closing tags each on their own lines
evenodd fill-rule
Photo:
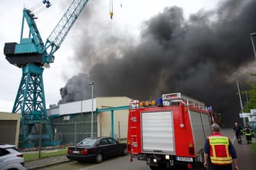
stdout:
<svg viewBox="0 0 256 170">
<path fill-rule="evenodd" d="M 211 120 L 203 102 L 181 93 L 163 94 L 151 101 L 132 100 L 127 133 L 130 161 L 146 161 L 152 170 L 203 168 Z"/>
</svg>

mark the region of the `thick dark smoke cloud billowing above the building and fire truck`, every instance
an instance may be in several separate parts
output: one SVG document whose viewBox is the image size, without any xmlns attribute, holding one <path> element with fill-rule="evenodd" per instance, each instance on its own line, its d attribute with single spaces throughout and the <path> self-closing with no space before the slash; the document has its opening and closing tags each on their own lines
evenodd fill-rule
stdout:
<svg viewBox="0 0 256 170">
<path fill-rule="evenodd" d="M 143 24 L 134 43 L 127 33 L 106 30 L 100 22 L 80 27 L 75 59 L 85 74 L 69 80 L 60 102 L 89 99 L 91 80 L 95 96 L 155 99 L 181 92 L 212 105 L 230 125 L 240 111 L 233 80 L 243 90 L 254 68 L 249 35 L 256 31 L 255 18 L 254 0 L 226 0 L 189 19 L 181 8 L 166 7 Z"/>
</svg>

